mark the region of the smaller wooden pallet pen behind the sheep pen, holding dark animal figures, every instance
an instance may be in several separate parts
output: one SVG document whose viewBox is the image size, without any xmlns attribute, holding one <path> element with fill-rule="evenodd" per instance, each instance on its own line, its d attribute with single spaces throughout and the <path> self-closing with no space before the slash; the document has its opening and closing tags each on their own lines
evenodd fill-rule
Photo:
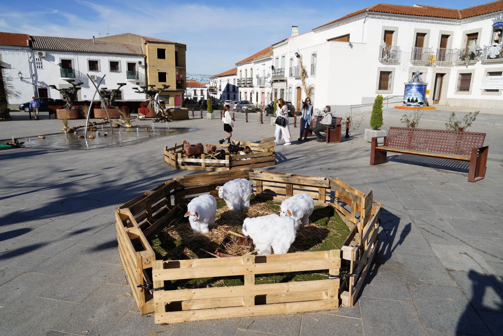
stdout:
<svg viewBox="0 0 503 336">
<path fill-rule="evenodd" d="M 201 154 L 201 158 L 191 158 L 183 155 L 183 144 L 175 144 L 175 146 L 171 148 L 167 148 L 167 146 L 164 147 L 162 157 L 166 163 L 174 168 L 189 171 L 220 172 L 242 167 L 258 168 L 275 164 L 274 137 L 264 139 L 258 143 L 250 141 L 233 141 L 234 144 L 238 142 L 240 142 L 240 145 L 243 147 L 249 146 L 254 152 L 246 155 L 230 154 L 227 152 L 225 159 L 217 160 L 211 158 L 215 153 L 210 154 L 205 151 Z M 220 151 L 221 149 L 226 150 L 228 144 L 216 144 L 215 146 L 217 147 L 217 151 Z"/>
</svg>

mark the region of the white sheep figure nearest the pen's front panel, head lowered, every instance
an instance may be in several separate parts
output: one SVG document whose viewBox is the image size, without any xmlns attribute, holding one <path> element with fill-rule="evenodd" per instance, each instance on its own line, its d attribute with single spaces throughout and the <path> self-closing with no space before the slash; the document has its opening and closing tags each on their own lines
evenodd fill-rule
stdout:
<svg viewBox="0 0 503 336">
<path fill-rule="evenodd" d="M 287 253 L 297 234 L 292 217 L 280 217 L 275 213 L 244 219 L 242 232 L 253 239 L 259 255 L 270 255 L 271 246 L 276 255 Z"/>
</svg>

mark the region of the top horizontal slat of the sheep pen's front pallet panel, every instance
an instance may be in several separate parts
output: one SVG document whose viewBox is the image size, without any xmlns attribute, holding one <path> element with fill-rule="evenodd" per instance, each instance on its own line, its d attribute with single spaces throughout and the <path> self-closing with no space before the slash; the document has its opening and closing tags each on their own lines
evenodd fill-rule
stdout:
<svg viewBox="0 0 503 336">
<path fill-rule="evenodd" d="M 285 273 L 299 271 L 316 271 L 340 268 L 340 260 L 313 260 L 295 263 L 265 263 L 253 265 L 231 265 L 202 267 L 195 269 L 171 269 L 152 271 L 154 280 L 179 280 L 206 277 L 229 277 L 234 275 Z"/>
</svg>

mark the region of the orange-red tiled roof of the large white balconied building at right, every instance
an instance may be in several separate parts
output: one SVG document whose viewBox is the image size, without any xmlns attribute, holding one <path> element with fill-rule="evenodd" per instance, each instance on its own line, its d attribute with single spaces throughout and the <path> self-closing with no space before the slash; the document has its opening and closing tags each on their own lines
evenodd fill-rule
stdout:
<svg viewBox="0 0 503 336">
<path fill-rule="evenodd" d="M 326 23 L 322 26 L 316 27 L 313 30 L 357 16 L 365 12 L 423 16 L 423 17 L 445 18 L 445 19 L 465 19 L 478 15 L 494 13 L 502 10 L 503 10 L 503 0 L 466 8 L 464 10 L 435 7 L 429 5 L 402 6 L 402 5 L 376 4 L 364 8 L 362 10 L 350 13 L 342 18 Z"/>
</svg>

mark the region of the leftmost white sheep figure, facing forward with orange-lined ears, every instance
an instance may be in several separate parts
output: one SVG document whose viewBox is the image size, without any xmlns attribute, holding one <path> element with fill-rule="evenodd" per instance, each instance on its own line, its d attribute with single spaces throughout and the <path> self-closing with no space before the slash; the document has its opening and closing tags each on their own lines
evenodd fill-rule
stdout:
<svg viewBox="0 0 503 336">
<path fill-rule="evenodd" d="M 215 224 L 215 213 L 217 212 L 217 201 L 211 195 L 201 195 L 194 198 L 187 204 L 190 227 L 194 233 L 210 232 L 208 225 Z"/>
</svg>

